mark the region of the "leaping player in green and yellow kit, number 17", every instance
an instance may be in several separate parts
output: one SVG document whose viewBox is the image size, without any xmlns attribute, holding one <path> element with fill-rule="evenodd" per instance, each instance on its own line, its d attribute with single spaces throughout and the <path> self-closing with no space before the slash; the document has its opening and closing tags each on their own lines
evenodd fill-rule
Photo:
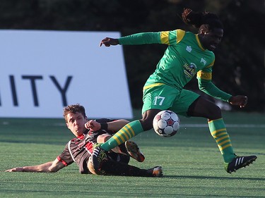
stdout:
<svg viewBox="0 0 265 198">
<path fill-rule="evenodd" d="M 213 139 L 216 140 L 223 156 L 225 171 L 228 173 L 248 166 L 257 159 L 254 155 L 235 155 L 220 108 L 199 94 L 183 89 L 184 85 L 196 75 L 199 89 L 209 96 L 241 108 L 247 104 L 247 97 L 232 96 L 218 89 L 211 82 L 215 61 L 213 51 L 223 37 L 222 23 L 214 13 L 197 13 L 189 8 L 184 8 L 182 20 L 199 28 L 198 34 L 172 30 L 142 32 L 119 39 L 109 37 L 102 39 L 100 46 L 104 44 L 105 47 L 117 44 L 167 44 L 168 47 L 155 72 L 150 75 L 143 87 L 141 120 L 128 123 L 110 140 L 94 147 L 92 160 L 96 171 L 100 172 L 100 163 L 105 158 L 105 151 L 110 151 L 143 131 L 151 130 L 155 115 L 166 109 L 182 116 L 208 119 L 208 128 Z"/>
</svg>

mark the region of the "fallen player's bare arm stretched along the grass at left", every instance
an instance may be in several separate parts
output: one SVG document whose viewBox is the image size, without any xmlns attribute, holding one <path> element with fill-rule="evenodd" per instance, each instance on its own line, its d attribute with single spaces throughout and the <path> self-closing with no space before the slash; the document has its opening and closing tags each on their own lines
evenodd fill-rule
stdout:
<svg viewBox="0 0 265 198">
<path fill-rule="evenodd" d="M 23 166 L 16 167 L 6 170 L 5 172 L 40 172 L 40 173 L 54 173 L 64 168 L 64 164 L 55 159 L 54 161 L 48 161 L 47 163 L 42 163 L 35 166 Z"/>
</svg>

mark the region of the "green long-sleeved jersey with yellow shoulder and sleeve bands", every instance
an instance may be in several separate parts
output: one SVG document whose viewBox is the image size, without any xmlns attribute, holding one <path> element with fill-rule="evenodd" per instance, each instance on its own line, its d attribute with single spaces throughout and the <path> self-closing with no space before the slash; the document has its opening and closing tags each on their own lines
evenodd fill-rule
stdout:
<svg viewBox="0 0 265 198">
<path fill-rule="evenodd" d="M 155 72 L 150 75 L 143 89 L 170 85 L 182 89 L 196 75 L 199 89 L 217 99 L 229 101 L 227 94 L 211 82 L 215 56 L 204 49 L 198 35 L 184 30 L 144 32 L 119 38 L 119 44 L 167 44 Z"/>
</svg>

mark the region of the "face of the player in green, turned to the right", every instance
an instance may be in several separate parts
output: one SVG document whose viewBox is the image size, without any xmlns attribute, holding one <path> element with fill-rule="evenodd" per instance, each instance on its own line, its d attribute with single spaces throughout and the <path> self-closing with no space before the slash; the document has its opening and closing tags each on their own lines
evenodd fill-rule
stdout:
<svg viewBox="0 0 265 198">
<path fill-rule="evenodd" d="M 223 38 L 223 29 L 215 28 L 211 32 L 202 32 L 200 38 L 204 48 L 214 51 Z"/>
</svg>

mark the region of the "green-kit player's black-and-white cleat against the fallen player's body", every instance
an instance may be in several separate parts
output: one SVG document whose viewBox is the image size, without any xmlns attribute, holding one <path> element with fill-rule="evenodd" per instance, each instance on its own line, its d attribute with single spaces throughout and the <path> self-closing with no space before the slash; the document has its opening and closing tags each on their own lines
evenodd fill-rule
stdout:
<svg viewBox="0 0 265 198">
<path fill-rule="evenodd" d="M 95 170 L 95 173 L 98 175 L 102 175 L 103 172 L 100 171 L 100 165 L 103 159 L 107 158 L 107 154 L 105 151 L 100 147 L 102 143 L 97 143 L 93 145 L 93 153 L 91 154 L 92 159 L 92 166 Z"/>
</svg>

